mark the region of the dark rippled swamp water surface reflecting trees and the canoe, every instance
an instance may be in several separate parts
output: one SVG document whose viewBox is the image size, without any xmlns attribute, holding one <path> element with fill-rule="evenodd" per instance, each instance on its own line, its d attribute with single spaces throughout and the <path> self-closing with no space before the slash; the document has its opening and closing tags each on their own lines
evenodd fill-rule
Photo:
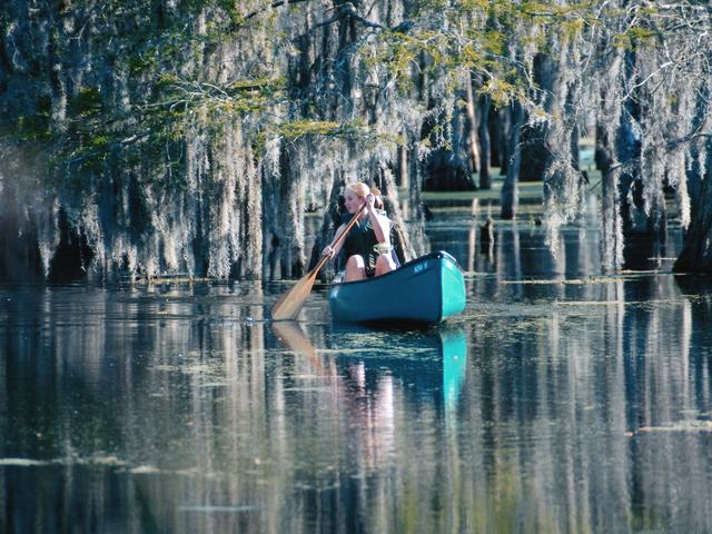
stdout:
<svg viewBox="0 0 712 534">
<path fill-rule="evenodd" d="M 455 210 L 456 211 L 456 210 Z M 0 286 L 0 532 L 712 532 L 709 280 L 436 211 L 433 329 L 285 285 Z M 585 225 L 584 225 L 585 226 Z M 656 269 L 656 270 L 652 270 Z"/>
</svg>

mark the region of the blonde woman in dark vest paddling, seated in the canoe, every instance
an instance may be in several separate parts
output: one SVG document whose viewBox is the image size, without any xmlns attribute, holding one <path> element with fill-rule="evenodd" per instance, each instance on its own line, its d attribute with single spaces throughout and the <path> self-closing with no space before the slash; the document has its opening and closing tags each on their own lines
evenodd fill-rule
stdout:
<svg viewBox="0 0 712 534">
<path fill-rule="evenodd" d="M 332 258 L 343 249 L 343 257 L 346 259 L 344 281 L 385 275 L 397 267 L 390 246 L 392 222 L 383 210 L 378 189 L 372 190 L 362 181 L 346 186 L 344 205 L 348 214 L 342 216 L 342 226 L 336 235 L 344 231 L 364 202 L 366 207 L 346 238 L 336 248 L 329 246 L 324 249 L 324 254 Z"/>
</svg>

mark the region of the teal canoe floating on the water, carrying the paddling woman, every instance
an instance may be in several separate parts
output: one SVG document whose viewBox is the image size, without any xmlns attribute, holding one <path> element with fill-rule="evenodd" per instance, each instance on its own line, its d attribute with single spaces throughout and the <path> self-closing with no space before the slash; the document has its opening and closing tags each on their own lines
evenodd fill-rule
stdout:
<svg viewBox="0 0 712 534">
<path fill-rule="evenodd" d="M 439 250 L 383 276 L 334 284 L 329 307 L 335 323 L 432 325 L 465 309 L 465 280 L 455 258 Z"/>
</svg>

